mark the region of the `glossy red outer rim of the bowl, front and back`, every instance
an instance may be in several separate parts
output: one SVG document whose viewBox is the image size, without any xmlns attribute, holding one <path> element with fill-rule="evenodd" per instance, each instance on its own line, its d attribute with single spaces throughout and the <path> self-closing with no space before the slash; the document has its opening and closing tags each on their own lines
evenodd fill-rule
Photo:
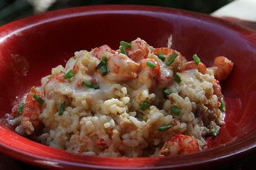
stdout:
<svg viewBox="0 0 256 170">
<path fill-rule="evenodd" d="M 0 32 L 4 30 L 8 30 L 8 32 L 1 34 L 0 36 L 0 43 L 4 41 L 4 39 L 12 36 L 14 33 L 21 32 L 25 29 L 29 29 L 31 27 L 37 26 L 39 24 L 47 23 L 47 22 L 53 22 L 57 21 L 59 19 L 65 19 L 67 17 L 79 17 L 79 16 L 85 16 L 85 15 L 91 15 L 91 14 L 112 14 L 112 13 L 122 13 L 122 14 L 131 14 L 132 12 L 139 12 L 139 14 L 146 14 L 148 13 L 165 13 L 165 14 L 171 14 L 171 15 L 181 15 L 184 17 L 189 17 L 193 19 L 198 19 L 200 21 L 216 24 L 220 27 L 224 27 L 227 29 L 230 29 L 230 31 L 234 32 L 243 32 L 245 33 L 244 37 L 247 37 L 249 34 L 255 34 L 252 29 L 239 26 L 237 24 L 231 23 L 229 21 L 225 21 L 220 18 L 214 18 L 211 16 L 208 16 L 206 14 L 200 14 L 195 12 L 188 12 L 181 9 L 172 9 L 172 8 L 166 8 L 166 7 L 153 7 L 153 6 L 134 6 L 134 5 L 98 5 L 98 6 L 85 6 L 85 7 L 75 7 L 75 8 L 66 8 L 66 9 L 59 9 L 56 11 L 46 12 L 42 14 L 37 14 L 35 16 L 27 17 L 18 19 L 17 21 L 4 24 L 0 27 Z M 18 26 L 18 27 L 17 27 Z M 252 39 L 252 37 L 248 36 L 248 39 Z M 255 38 L 256 41 L 256 38 Z M 256 44 L 252 44 L 256 48 Z M 0 136 L 1 134 L 6 133 L 9 130 L 6 129 L 2 125 L 0 126 Z M 12 132 L 14 133 L 14 132 Z M 253 135 L 252 135 L 253 134 Z M 246 136 L 246 137 L 245 137 Z M 105 161 L 114 161 L 114 164 L 112 166 L 98 166 L 93 164 L 84 164 L 84 163 L 78 163 L 78 162 L 70 162 L 70 161 L 64 161 L 63 159 L 55 159 L 51 157 L 43 157 L 36 154 L 33 154 L 29 151 L 21 151 L 19 148 L 11 147 L 8 145 L 6 141 L 4 141 L 2 138 L 0 138 L 0 152 L 3 152 L 5 154 L 8 154 L 9 156 L 12 156 L 16 159 L 19 159 L 24 162 L 29 162 L 32 164 L 35 164 L 37 166 L 43 166 L 43 167 L 54 167 L 56 168 L 55 164 L 51 163 L 42 163 L 40 161 L 35 162 L 34 159 L 38 159 L 41 161 L 48 161 L 48 162 L 54 162 L 57 163 L 57 168 L 61 168 L 61 166 L 69 166 L 73 168 L 104 168 L 104 169 L 162 169 L 162 168 L 180 168 L 180 167 L 188 167 L 188 166 L 198 166 L 201 164 L 220 164 L 224 163 L 224 161 L 231 161 L 232 159 L 238 159 L 244 155 L 247 155 L 249 153 L 252 153 L 256 151 L 256 132 L 252 132 L 250 134 L 245 134 L 243 138 L 239 138 L 236 140 L 236 142 L 229 142 L 225 144 L 225 148 L 227 148 L 228 152 L 225 154 L 219 154 L 218 152 L 223 150 L 223 146 L 215 147 L 211 149 L 207 149 L 206 151 L 202 151 L 199 153 L 194 154 L 188 154 L 184 156 L 176 156 L 173 159 L 173 164 L 166 164 L 164 163 L 163 166 L 160 164 L 152 167 L 143 167 L 145 164 L 140 164 L 140 166 L 129 166 L 129 164 L 126 164 L 126 166 L 119 167 L 114 166 L 115 162 L 119 162 L 119 160 L 125 160 L 127 162 L 138 162 L 138 161 L 168 161 L 169 157 L 157 157 L 157 158 L 103 158 L 103 157 L 94 157 L 94 156 L 82 156 L 83 158 L 97 158 L 97 161 L 105 160 Z M 33 142 L 33 141 L 31 141 Z M 36 142 L 34 142 L 36 143 Z M 239 143 L 243 143 L 243 147 L 239 146 Z M 37 146 L 41 146 L 42 144 L 37 143 L 35 144 Z M 224 149 L 225 149 L 224 148 Z M 56 150 L 54 148 L 51 148 L 52 150 Z M 66 152 L 66 151 L 59 151 L 58 152 Z M 70 157 L 81 157 L 76 156 L 72 153 L 70 154 Z M 208 159 L 200 159 L 200 160 L 194 160 L 193 157 L 199 156 L 207 156 Z M 179 161 L 179 159 L 186 159 L 190 160 L 188 163 L 184 163 L 183 161 Z M 193 160 L 193 162 L 191 162 Z M 176 162 L 175 162 L 176 161 Z"/>
</svg>

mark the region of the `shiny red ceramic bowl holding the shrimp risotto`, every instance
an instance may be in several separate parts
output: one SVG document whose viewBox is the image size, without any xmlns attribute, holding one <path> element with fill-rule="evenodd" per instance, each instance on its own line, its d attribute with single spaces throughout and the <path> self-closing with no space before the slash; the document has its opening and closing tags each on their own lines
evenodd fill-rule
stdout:
<svg viewBox="0 0 256 170">
<path fill-rule="evenodd" d="M 0 113 L 9 113 L 17 97 L 40 84 L 57 64 L 80 49 L 121 40 L 145 39 L 173 48 L 188 59 L 194 53 L 207 66 L 226 56 L 235 63 L 222 82 L 226 124 L 206 149 L 190 155 L 159 158 L 77 156 L 43 146 L 0 126 L 0 149 L 24 162 L 51 168 L 161 169 L 204 168 L 246 156 L 256 146 L 256 32 L 203 14 L 146 6 L 92 6 L 63 9 L 20 19 L 0 27 Z M 17 96 L 17 97 L 16 97 Z"/>
</svg>

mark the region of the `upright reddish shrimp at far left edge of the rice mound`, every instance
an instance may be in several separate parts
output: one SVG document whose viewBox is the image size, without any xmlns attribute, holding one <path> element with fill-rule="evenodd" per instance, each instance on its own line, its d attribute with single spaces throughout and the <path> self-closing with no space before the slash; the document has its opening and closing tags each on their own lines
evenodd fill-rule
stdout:
<svg viewBox="0 0 256 170">
<path fill-rule="evenodd" d="M 32 87 L 27 94 L 25 106 L 21 113 L 21 126 L 26 134 L 32 134 L 39 124 L 38 116 L 41 114 L 42 105 L 33 97 L 35 94 L 41 98 L 44 97 L 35 87 Z"/>
</svg>

